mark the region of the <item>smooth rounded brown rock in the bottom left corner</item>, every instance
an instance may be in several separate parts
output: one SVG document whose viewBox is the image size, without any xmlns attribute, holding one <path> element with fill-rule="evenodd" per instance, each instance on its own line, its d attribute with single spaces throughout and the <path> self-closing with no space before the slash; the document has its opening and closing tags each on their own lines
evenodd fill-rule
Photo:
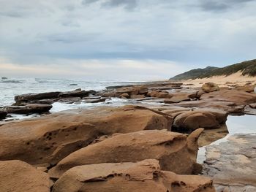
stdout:
<svg viewBox="0 0 256 192">
<path fill-rule="evenodd" d="M 0 161 L 0 191 L 50 192 L 48 174 L 23 161 Z"/>
</svg>

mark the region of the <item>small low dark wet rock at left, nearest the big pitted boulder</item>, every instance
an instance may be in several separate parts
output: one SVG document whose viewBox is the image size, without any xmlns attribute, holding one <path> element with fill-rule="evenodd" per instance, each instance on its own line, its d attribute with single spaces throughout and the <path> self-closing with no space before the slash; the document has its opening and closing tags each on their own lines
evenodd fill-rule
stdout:
<svg viewBox="0 0 256 192">
<path fill-rule="evenodd" d="M 26 104 L 25 106 L 9 106 L 4 107 L 8 113 L 31 114 L 49 112 L 53 106 L 50 104 Z"/>
</svg>

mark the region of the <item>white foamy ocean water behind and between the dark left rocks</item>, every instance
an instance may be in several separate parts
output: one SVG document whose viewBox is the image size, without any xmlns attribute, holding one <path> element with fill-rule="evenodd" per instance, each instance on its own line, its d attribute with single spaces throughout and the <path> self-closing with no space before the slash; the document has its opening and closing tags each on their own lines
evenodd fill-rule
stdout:
<svg viewBox="0 0 256 192">
<path fill-rule="evenodd" d="M 1 78 L 0 79 L 0 107 L 13 104 L 14 97 L 24 93 L 43 93 L 50 91 L 73 91 L 81 88 L 82 90 L 101 91 L 107 86 L 140 84 L 141 82 L 132 81 L 88 81 L 88 80 L 71 80 L 71 79 L 42 79 L 42 78 Z M 73 84 L 73 85 L 72 85 Z M 75 85 L 74 85 L 75 84 Z M 54 103 L 50 112 L 59 112 L 62 110 L 96 107 L 99 105 L 113 104 L 115 106 L 129 104 L 126 99 L 108 99 L 103 103 L 97 104 L 64 104 Z M 15 118 L 22 118 L 20 115 L 15 115 Z"/>
</svg>

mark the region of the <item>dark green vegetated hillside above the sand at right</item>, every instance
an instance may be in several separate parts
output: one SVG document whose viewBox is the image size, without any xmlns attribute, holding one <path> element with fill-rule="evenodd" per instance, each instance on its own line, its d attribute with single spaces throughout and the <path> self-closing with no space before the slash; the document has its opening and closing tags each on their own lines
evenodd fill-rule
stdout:
<svg viewBox="0 0 256 192">
<path fill-rule="evenodd" d="M 208 66 L 205 69 L 192 69 L 188 72 L 178 74 L 175 77 L 171 77 L 170 80 L 195 80 L 213 76 L 234 74 L 236 72 L 242 72 L 242 75 L 247 75 L 249 77 L 256 76 L 256 59 L 251 61 L 244 61 L 238 64 L 233 64 L 230 66 L 225 66 L 222 68 Z"/>
</svg>

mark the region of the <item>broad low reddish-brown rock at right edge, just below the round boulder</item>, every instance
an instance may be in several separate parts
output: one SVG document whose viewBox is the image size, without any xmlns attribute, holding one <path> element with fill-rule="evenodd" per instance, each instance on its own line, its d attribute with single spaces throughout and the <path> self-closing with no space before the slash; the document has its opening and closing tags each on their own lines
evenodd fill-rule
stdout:
<svg viewBox="0 0 256 192">
<path fill-rule="evenodd" d="M 210 101 L 229 101 L 235 103 L 238 106 L 241 104 L 255 103 L 256 94 L 236 90 L 222 90 L 203 94 L 201 99 L 208 99 Z"/>
</svg>

